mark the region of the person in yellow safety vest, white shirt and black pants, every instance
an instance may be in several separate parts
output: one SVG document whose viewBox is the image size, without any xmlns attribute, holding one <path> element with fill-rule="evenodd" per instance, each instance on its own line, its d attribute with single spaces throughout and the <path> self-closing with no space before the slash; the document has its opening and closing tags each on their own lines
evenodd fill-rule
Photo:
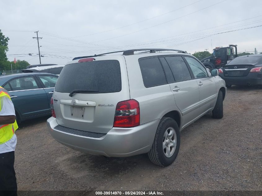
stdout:
<svg viewBox="0 0 262 196">
<path fill-rule="evenodd" d="M 17 195 L 14 169 L 17 128 L 13 102 L 8 91 L 0 86 L 0 195 Z"/>
</svg>

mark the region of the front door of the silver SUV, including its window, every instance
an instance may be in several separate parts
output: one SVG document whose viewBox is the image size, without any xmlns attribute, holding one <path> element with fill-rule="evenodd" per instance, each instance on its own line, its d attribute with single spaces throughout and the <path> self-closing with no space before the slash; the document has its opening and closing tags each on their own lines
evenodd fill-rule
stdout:
<svg viewBox="0 0 262 196">
<path fill-rule="evenodd" d="M 186 62 L 192 70 L 199 88 L 200 112 L 204 113 L 214 107 L 216 102 L 216 84 L 213 77 L 209 77 L 206 68 L 193 57 L 185 56 Z"/>
</svg>

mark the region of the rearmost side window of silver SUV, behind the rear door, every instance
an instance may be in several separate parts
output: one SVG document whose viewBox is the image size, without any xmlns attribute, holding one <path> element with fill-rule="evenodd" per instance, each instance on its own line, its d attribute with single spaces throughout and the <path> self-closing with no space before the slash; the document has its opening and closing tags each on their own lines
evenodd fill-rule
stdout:
<svg viewBox="0 0 262 196">
<path fill-rule="evenodd" d="M 143 82 L 145 87 L 167 84 L 167 80 L 158 58 L 139 60 Z"/>
</svg>

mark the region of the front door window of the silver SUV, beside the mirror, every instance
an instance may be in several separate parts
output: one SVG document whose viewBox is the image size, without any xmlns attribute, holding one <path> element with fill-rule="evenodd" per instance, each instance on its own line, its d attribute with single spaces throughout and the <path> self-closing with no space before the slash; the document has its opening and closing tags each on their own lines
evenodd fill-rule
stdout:
<svg viewBox="0 0 262 196">
<path fill-rule="evenodd" d="M 195 78 L 208 77 L 206 69 L 196 59 L 192 57 L 185 57 L 185 59 L 188 62 Z"/>
</svg>

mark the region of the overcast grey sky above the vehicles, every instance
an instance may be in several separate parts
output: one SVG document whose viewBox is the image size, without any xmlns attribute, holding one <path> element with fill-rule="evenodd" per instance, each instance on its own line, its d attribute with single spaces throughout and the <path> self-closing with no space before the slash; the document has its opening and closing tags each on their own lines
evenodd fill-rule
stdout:
<svg viewBox="0 0 262 196">
<path fill-rule="evenodd" d="M 0 29 L 10 38 L 10 61 L 16 57 L 39 63 L 37 40 L 32 38 L 37 30 L 42 63 L 65 64 L 76 56 L 134 48 L 192 54 L 237 44 L 239 52 L 255 48 L 262 52 L 261 0 L 2 0 L 0 4 Z M 255 26 L 260 27 L 251 28 Z M 223 33 L 228 31 L 233 32 Z"/>
</svg>

